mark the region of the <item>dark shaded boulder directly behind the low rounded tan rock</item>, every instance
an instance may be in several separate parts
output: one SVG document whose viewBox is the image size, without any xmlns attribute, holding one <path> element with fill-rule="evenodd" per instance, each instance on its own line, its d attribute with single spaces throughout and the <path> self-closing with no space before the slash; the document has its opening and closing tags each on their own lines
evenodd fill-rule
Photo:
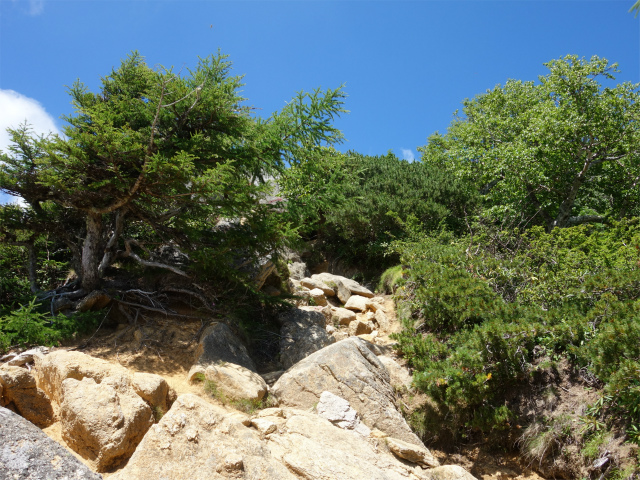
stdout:
<svg viewBox="0 0 640 480">
<path fill-rule="evenodd" d="M 235 363 L 256 371 L 256 365 L 249 356 L 247 347 L 224 323 L 215 323 L 202 332 L 195 357 L 196 363 L 189 374 L 190 379 L 193 377 L 193 371 L 204 372 L 209 365 L 220 362 Z"/>
</svg>

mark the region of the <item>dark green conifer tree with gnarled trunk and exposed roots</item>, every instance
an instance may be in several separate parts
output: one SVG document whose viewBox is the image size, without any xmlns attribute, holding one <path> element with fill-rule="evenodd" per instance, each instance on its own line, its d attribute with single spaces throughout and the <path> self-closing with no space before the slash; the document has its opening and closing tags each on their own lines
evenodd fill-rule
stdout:
<svg viewBox="0 0 640 480">
<path fill-rule="evenodd" d="M 116 259 L 145 264 L 149 246 L 169 241 L 198 257 L 198 273 L 215 269 L 246 282 L 234 270 L 296 235 L 282 205 L 268 200 L 267 178 L 341 140 L 331 121 L 344 112 L 344 93 L 301 92 L 261 120 L 241 87 L 219 53 L 181 75 L 152 69 L 133 52 L 98 92 L 76 82 L 65 138 L 10 130 L 0 189 L 30 208 L 5 222 L 7 231 L 65 243 L 87 291 Z"/>
</svg>

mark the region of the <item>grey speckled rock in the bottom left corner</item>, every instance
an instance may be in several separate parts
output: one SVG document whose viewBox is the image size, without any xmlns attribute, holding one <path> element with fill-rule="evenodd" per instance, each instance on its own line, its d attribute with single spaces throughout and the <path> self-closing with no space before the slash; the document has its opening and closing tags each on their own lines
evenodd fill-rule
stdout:
<svg viewBox="0 0 640 480">
<path fill-rule="evenodd" d="M 38 427 L 0 407 L 0 478 L 99 480 L 102 476 Z"/>
</svg>

